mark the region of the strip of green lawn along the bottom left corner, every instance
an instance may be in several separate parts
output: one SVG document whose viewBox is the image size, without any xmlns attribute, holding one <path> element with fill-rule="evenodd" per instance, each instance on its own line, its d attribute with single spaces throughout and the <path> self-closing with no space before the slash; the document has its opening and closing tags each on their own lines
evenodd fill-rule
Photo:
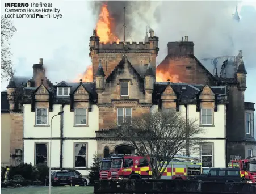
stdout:
<svg viewBox="0 0 256 194">
<path fill-rule="evenodd" d="M 53 194 L 93 194 L 94 187 L 52 187 Z M 24 187 L 1 189 L 2 194 L 48 194 L 48 187 Z"/>
</svg>

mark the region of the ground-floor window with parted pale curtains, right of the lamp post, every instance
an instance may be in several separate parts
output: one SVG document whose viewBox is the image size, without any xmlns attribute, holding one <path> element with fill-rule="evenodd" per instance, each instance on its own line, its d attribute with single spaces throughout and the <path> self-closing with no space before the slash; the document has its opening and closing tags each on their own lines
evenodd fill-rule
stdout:
<svg viewBox="0 0 256 194">
<path fill-rule="evenodd" d="M 86 167 L 86 144 L 75 144 L 75 167 Z"/>
</svg>

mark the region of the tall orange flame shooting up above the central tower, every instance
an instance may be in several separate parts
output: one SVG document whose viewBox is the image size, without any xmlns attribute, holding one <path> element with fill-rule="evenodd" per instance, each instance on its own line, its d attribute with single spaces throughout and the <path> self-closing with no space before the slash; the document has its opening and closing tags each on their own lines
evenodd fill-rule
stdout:
<svg viewBox="0 0 256 194">
<path fill-rule="evenodd" d="M 120 42 L 117 36 L 111 32 L 110 28 L 110 12 L 107 9 L 107 4 L 104 4 L 99 14 L 99 20 L 96 25 L 97 34 L 101 42 Z"/>
</svg>

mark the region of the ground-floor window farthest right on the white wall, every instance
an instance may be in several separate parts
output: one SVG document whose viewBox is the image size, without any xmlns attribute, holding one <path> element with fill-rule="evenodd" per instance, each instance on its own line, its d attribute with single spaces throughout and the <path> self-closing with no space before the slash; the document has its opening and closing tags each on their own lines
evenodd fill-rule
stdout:
<svg viewBox="0 0 256 194">
<path fill-rule="evenodd" d="M 201 161 L 202 167 L 213 167 L 212 161 L 212 144 L 202 144 L 201 145 Z"/>
</svg>

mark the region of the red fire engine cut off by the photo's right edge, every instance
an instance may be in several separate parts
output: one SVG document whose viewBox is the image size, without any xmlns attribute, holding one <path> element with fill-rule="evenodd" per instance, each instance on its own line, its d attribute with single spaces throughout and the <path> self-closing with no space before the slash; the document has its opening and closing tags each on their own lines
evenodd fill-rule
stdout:
<svg viewBox="0 0 256 194">
<path fill-rule="evenodd" d="M 247 183 L 256 183 L 256 157 L 249 156 L 246 159 L 241 157 L 232 157 L 228 167 L 240 168 L 241 181 Z"/>
</svg>

